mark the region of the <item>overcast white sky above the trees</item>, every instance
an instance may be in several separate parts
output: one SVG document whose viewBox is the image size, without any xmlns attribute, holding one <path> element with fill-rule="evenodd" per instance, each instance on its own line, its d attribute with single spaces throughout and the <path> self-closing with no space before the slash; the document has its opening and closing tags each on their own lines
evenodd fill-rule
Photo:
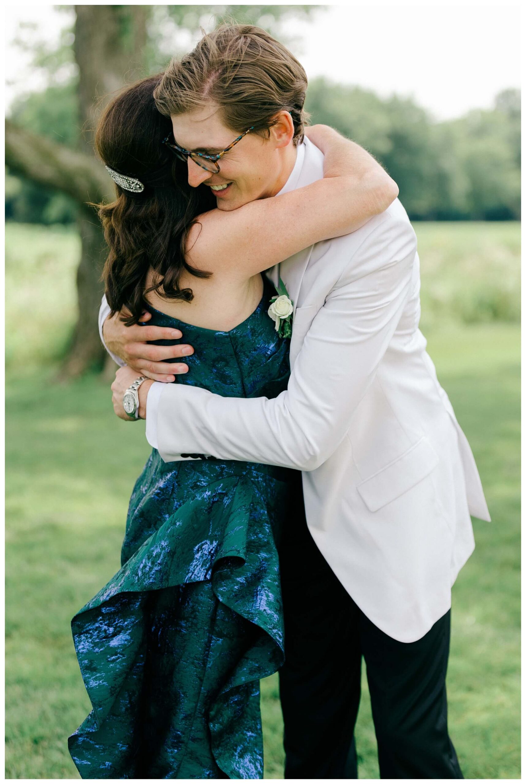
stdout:
<svg viewBox="0 0 526 784">
<path fill-rule="evenodd" d="M 42 85 L 27 54 L 13 45 L 20 21 L 54 40 L 64 16 L 53 5 L 5 9 L 6 100 Z M 518 5 L 330 5 L 295 21 L 292 49 L 309 78 L 325 74 L 383 96 L 413 96 L 438 119 L 489 107 L 495 93 L 520 86 Z M 285 28 L 287 29 L 287 28 Z"/>
</svg>

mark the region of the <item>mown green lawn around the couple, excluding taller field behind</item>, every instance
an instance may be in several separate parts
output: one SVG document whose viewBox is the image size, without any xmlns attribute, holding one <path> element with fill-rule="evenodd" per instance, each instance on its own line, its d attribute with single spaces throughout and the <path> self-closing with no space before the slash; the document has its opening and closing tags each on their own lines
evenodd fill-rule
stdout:
<svg viewBox="0 0 526 784">
<path fill-rule="evenodd" d="M 492 512 L 453 594 L 450 731 L 470 779 L 520 777 L 519 332 L 444 329 L 430 353 L 470 438 Z M 113 416 L 107 385 L 35 377 L 7 390 L 8 778 L 67 779 L 67 735 L 89 712 L 69 622 L 118 570 L 143 424 Z M 117 446 L 118 445 L 118 446 Z M 277 678 L 263 681 L 266 776 L 282 776 Z M 361 778 L 377 778 L 365 688 Z"/>
</svg>

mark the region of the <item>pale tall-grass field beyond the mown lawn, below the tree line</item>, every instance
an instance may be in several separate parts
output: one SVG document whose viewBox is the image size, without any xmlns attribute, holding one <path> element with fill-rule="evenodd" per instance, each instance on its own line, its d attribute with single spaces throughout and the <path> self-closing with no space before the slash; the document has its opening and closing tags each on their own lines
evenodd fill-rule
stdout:
<svg viewBox="0 0 526 784">
<path fill-rule="evenodd" d="M 422 270 L 424 331 L 444 321 L 519 322 L 520 223 L 414 225 Z M 49 367 L 63 354 L 76 318 L 74 280 L 79 252 L 78 234 L 71 229 L 7 224 L 8 370 Z"/>
</svg>

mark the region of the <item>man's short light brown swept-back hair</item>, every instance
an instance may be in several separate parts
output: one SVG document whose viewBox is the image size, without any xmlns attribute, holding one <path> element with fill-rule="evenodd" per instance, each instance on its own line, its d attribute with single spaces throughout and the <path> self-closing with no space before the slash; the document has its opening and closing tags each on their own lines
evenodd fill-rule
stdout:
<svg viewBox="0 0 526 784">
<path fill-rule="evenodd" d="M 307 74 L 303 66 L 267 31 L 252 24 L 222 24 L 189 54 L 174 58 L 154 91 L 166 116 L 216 103 L 223 122 L 241 133 L 268 137 L 279 111 L 294 122 L 294 143 L 303 141 L 308 115 L 303 110 Z"/>
</svg>

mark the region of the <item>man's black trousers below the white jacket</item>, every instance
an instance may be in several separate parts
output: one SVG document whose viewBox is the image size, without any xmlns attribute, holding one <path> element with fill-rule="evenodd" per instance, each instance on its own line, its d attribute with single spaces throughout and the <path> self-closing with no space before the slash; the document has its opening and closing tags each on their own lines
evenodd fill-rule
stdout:
<svg viewBox="0 0 526 784">
<path fill-rule="evenodd" d="M 463 779 L 448 735 L 450 612 L 401 643 L 357 607 L 317 549 L 303 503 L 280 545 L 285 779 L 357 779 L 354 724 L 365 659 L 382 779 Z"/>
</svg>

